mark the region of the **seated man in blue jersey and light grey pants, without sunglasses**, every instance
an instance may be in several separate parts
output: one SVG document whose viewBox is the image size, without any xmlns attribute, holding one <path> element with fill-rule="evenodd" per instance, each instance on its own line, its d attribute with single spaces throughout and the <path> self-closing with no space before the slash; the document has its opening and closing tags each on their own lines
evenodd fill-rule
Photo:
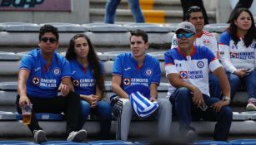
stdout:
<svg viewBox="0 0 256 145">
<path fill-rule="evenodd" d="M 118 117 L 118 125 L 121 125 L 117 129 L 117 139 L 128 138 L 134 111 L 125 89 L 133 85 L 144 85 L 149 89 L 149 100 L 158 103 L 158 135 L 161 138 L 169 136 L 171 104 L 168 99 L 158 99 L 161 70 L 159 61 L 145 53 L 148 46 L 148 34 L 145 31 L 131 31 L 131 53 L 120 54 L 114 60 L 112 88 L 118 97 L 112 99 L 111 104 L 113 114 Z"/>
</svg>

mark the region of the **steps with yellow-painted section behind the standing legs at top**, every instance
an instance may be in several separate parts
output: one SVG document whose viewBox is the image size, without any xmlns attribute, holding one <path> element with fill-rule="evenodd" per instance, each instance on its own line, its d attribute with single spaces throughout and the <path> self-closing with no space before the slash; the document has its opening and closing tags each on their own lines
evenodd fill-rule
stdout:
<svg viewBox="0 0 256 145">
<path fill-rule="evenodd" d="M 105 3 L 107 0 L 89 0 L 90 21 L 103 22 Z M 182 22 L 183 11 L 180 0 L 140 0 L 145 21 L 147 23 Z M 208 9 L 210 22 L 216 22 L 216 12 Z M 122 0 L 116 12 L 116 22 L 134 22 L 133 14 L 128 7 L 127 0 Z"/>
</svg>

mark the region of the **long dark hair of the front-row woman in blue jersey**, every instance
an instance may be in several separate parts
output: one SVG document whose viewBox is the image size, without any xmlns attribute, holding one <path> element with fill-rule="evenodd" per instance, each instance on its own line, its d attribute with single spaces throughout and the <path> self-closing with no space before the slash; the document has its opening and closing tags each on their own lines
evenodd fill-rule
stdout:
<svg viewBox="0 0 256 145">
<path fill-rule="evenodd" d="M 102 91 L 103 97 L 105 96 L 105 85 L 104 85 L 104 79 L 103 79 L 103 72 L 100 65 L 100 60 L 98 59 L 98 56 L 96 52 L 94 51 L 92 42 L 88 38 L 88 36 L 84 34 L 77 34 L 71 38 L 69 41 L 68 51 L 66 52 L 66 58 L 67 60 L 73 60 L 77 59 L 77 54 L 74 52 L 75 49 L 75 40 L 78 38 L 83 37 L 85 40 L 88 41 L 89 51 L 88 51 L 88 63 L 90 70 L 93 71 L 94 79 L 96 80 L 96 85 L 98 86 L 98 89 Z"/>
</svg>

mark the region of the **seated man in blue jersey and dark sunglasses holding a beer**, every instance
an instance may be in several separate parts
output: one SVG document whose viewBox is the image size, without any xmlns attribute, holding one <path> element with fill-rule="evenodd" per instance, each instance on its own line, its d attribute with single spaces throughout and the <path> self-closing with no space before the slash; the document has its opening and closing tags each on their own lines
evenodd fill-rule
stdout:
<svg viewBox="0 0 256 145">
<path fill-rule="evenodd" d="M 46 133 L 40 128 L 36 113 L 64 113 L 67 118 L 68 141 L 83 141 L 86 131 L 79 130 L 80 98 L 73 92 L 71 70 L 63 56 L 58 55 L 58 28 L 45 25 L 39 31 L 39 48 L 30 51 L 21 60 L 18 73 L 17 110 L 33 104 L 28 128 L 37 143 L 45 142 Z M 59 85 L 61 87 L 59 87 Z M 58 90 L 61 95 L 58 96 Z"/>
</svg>

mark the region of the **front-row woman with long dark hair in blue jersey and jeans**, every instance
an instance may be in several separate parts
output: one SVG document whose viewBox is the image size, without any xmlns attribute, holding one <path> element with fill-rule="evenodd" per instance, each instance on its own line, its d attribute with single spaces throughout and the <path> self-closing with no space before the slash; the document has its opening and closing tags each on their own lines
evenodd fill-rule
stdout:
<svg viewBox="0 0 256 145">
<path fill-rule="evenodd" d="M 71 65 L 75 92 L 81 99 L 81 126 L 90 112 L 99 114 L 101 138 L 108 138 L 111 126 L 111 106 L 103 100 L 104 75 L 93 45 L 84 34 L 77 34 L 69 42 L 66 58 Z"/>
</svg>

